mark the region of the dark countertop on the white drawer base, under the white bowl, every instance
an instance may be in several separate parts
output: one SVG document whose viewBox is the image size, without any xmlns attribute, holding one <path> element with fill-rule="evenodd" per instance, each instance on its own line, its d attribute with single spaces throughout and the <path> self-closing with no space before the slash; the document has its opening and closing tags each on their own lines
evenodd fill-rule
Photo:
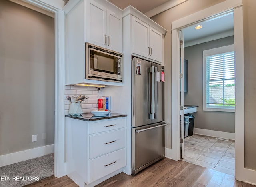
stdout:
<svg viewBox="0 0 256 187">
<path fill-rule="evenodd" d="M 97 121 L 102 119 L 111 119 L 117 117 L 126 117 L 127 114 L 120 114 L 120 113 L 109 113 L 106 116 L 94 116 L 92 113 L 82 113 L 81 115 L 65 115 L 65 117 L 70 117 L 74 119 L 80 119 L 84 121 Z"/>
</svg>

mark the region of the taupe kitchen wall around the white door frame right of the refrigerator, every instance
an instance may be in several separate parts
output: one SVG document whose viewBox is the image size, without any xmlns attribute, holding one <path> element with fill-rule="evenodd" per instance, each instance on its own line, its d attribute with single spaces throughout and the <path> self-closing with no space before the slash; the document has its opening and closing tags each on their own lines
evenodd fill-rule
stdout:
<svg viewBox="0 0 256 187">
<path fill-rule="evenodd" d="M 224 0 L 188 0 L 174 8 L 152 17 L 152 20 L 168 30 L 164 38 L 164 65 L 166 67 L 166 122 L 171 121 L 171 22 L 198 12 Z M 245 166 L 256 170 L 256 1 L 243 0 L 244 12 L 244 88 L 245 88 Z M 166 129 L 166 147 L 171 148 L 171 128 Z"/>
</svg>

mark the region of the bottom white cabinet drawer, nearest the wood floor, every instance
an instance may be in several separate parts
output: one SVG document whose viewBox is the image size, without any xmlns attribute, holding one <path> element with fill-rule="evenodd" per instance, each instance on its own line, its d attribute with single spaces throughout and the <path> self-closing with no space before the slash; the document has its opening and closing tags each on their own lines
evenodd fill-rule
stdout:
<svg viewBox="0 0 256 187">
<path fill-rule="evenodd" d="M 93 182 L 126 166 L 126 151 L 121 149 L 89 161 L 89 181 Z"/>
</svg>

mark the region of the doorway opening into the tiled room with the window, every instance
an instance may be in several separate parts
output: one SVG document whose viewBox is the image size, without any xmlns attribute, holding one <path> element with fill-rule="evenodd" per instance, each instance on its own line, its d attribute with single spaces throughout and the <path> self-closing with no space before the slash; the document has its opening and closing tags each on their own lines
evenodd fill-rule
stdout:
<svg viewBox="0 0 256 187">
<path fill-rule="evenodd" d="M 180 89 L 180 105 L 185 106 L 183 112 L 187 116 L 182 123 L 184 148 L 181 149 L 184 150 L 181 157 L 190 163 L 234 175 L 234 47 L 228 48 L 232 54 L 220 56 L 226 52 L 226 46 L 234 45 L 233 11 L 180 30 L 180 38 L 184 38 L 180 50 L 184 59 L 180 62 L 180 67 L 184 67 L 180 72 L 184 75 L 180 78 L 180 86 L 184 85 Z M 203 55 L 205 52 L 210 57 Z M 192 107 L 197 106 L 193 113 Z"/>
</svg>

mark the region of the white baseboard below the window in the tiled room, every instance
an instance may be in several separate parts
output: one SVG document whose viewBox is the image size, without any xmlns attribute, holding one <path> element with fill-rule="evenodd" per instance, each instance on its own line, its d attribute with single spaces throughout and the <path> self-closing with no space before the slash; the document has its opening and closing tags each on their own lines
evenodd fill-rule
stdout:
<svg viewBox="0 0 256 187">
<path fill-rule="evenodd" d="M 220 138 L 232 139 L 232 140 L 235 139 L 235 133 L 212 131 L 212 130 L 207 130 L 207 129 L 194 128 L 194 134 L 200 134 L 200 135 L 206 135 L 206 136 L 212 136 L 212 137 L 220 137 Z"/>
</svg>

